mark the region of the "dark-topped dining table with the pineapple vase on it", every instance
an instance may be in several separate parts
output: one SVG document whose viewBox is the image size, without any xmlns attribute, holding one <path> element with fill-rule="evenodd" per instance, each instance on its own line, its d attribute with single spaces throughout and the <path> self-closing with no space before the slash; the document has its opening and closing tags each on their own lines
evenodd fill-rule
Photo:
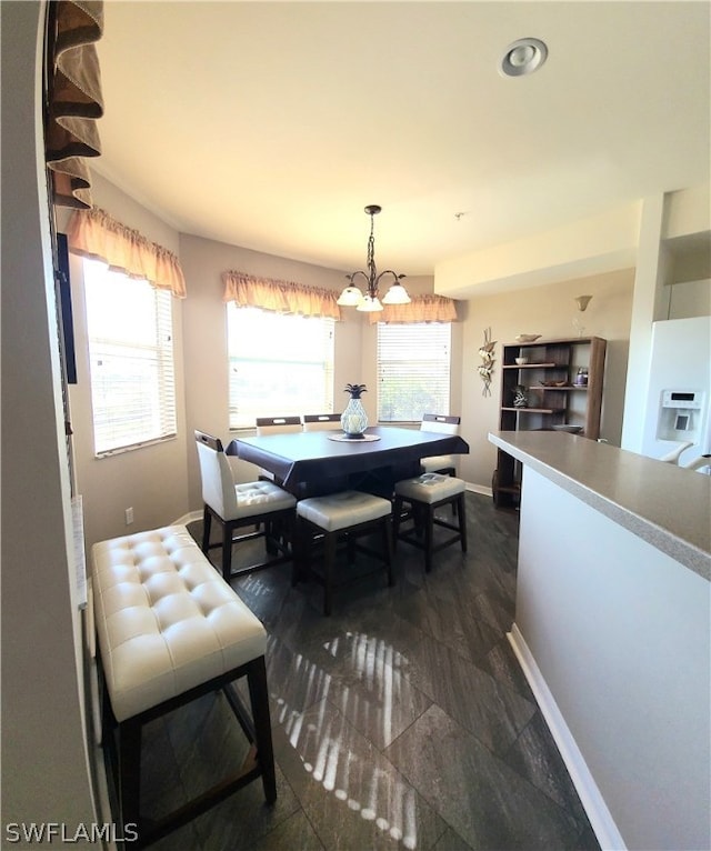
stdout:
<svg viewBox="0 0 711 851">
<path fill-rule="evenodd" d="M 349 489 L 389 499 L 397 481 L 419 475 L 420 459 L 468 454 L 469 444 L 458 434 L 373 426 L 360 438 L 332 430 L 237 438 L 226 453 L 271 472 L 299 499 Z"/>
</svg>

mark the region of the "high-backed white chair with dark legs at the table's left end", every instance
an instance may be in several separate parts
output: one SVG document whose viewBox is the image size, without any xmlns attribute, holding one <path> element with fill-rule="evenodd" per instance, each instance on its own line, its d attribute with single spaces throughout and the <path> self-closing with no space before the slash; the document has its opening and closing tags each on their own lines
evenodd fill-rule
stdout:
<svg viewBox="0 0 711 851">
<path fill-rule="evenodd" d="M 222 548 L 222 577 L 228 582 L 233 575 L 290 561 L 288 541 L 293 540 L 296 497 L 273 482 L 236 483 L 222 441 L 203 431 L 196 430 L 194 435 L 202 482 L 202 552 L 208 555 L 209 550 Z M 218 543 L 210 543 L 213 518 L 222 527 Z M 243 527 L 254 529 L 234 535 Z M 256 538 L 264 538 L 271 558 L 232 573 L 232 547 Z"/>
</svg>

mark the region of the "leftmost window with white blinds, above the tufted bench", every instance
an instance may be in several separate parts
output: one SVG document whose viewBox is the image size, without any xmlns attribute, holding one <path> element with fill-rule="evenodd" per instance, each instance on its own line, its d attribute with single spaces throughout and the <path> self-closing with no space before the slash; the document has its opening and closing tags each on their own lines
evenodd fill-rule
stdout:
<svg viewBox="0 0 711 851">
<path fill-rule="evenodd" d="M 84 260 L 94 449 L 176 434 L 171 294 Z"/>
</svg>

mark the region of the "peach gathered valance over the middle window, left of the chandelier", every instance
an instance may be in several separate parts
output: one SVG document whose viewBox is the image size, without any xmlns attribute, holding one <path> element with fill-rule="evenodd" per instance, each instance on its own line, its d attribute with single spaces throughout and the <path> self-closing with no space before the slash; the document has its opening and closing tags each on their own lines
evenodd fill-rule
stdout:
<svg viewBox="0 0 711 851">
<path fill-rule="evenodd" d="M 261 308 L 276 313 L 341 319 L 341 309 L 336 303 L 338 293 L 333 290 L 234 271 L 223 272 L 222 280 L 223 300 L 233 301 L 240 308 Z"/>
</svg>

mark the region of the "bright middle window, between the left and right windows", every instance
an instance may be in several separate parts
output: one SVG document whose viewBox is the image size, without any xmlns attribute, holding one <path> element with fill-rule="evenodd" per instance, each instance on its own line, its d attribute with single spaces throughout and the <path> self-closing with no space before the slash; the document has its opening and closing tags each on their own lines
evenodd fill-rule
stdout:
<svg viewBox="0 0 711 851">
<path fill-rule="evenodd" d="M 333 410 L 332 319 L 227 307 L 230 428 Z"/>
</svg>

